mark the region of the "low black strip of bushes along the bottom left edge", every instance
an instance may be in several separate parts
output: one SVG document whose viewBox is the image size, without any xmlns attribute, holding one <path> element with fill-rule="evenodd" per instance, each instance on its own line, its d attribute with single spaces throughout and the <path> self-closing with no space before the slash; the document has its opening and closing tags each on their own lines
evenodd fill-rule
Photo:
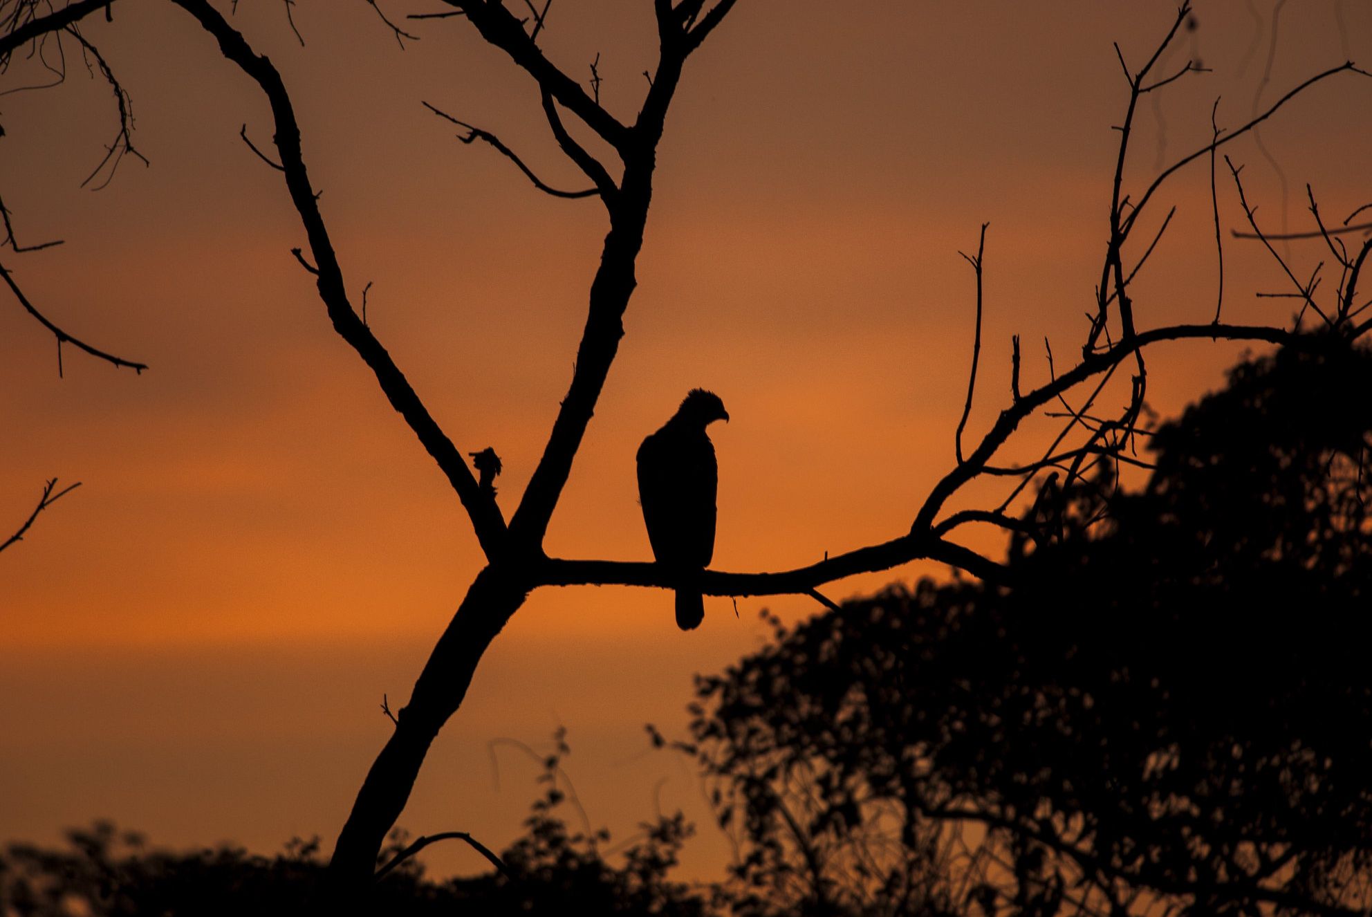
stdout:
<svg viewBox="0 0 1372 917">
<path fill-rule="evenodd" d="M 504 854 L 505 873 L 438 883 L 424 877 L 417 859 L 405 859 L 377 881 L 373 910 L 380 914 L 624 914 L 704 917 L 708 899 L 670 881 L 691 829 L 681 813 L 641 825 L 642 836 L 611 865 L 602 846 L 609 832 L 571 832 L 560 817 L 565 803 L 557 774 L 568 752 L 561 736 L 543 759 L 543 793 L 524 822 L 525 833 Z M 405 847 L 394 832 L 381 859 Z M 616 858 L 619 861 L 619 858 Z M 0 914 L 19 917 L 285 917 L 314 913 L 327 880 L 318 839 L 295 839 L 276 857 L 239 847 L 191 852 L 148 850 L 133 832 L 110 822 L 69 831 L 67 848 L 10 844 L 0 855 Z"/>
</svg>

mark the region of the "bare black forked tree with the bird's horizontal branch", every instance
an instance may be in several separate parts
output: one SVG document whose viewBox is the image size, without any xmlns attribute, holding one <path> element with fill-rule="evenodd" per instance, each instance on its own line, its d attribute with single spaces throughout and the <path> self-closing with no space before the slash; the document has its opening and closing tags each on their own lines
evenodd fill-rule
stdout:
<svg viewBox="0 0 1372 917">
<path fill-rule="evenodd" d="M 287 0 L 287 10 L 289 1 Z M 637 284 L 635 261 L 643 243 L 656 152 L 668 107 L 690 56 L 724 21 L 734 8 L 734 0 L 675 3 L 653 0 L 657 62 L 656 67 L 645 74 L 648 77 L 645 91 L 631 122 L 622 121 L 601 104 L 600 80 L 594 65 L 587 92 L 580 82 L 545 55 L 539 36 L 545 30 L 547 3 L 539 5 L 525 0 L 525 8 L 514 11 L 494 0 L 442 0 L 446 10 L 417 16 L 456 19 L 456 26 L 475 29 L 482 40 L 502 51 L 516 67 L 532 77 L 558 147 L 584 174 L 589 187 L 571 191 L 556 188 L 535 174 L 523 158 L 493 133 L 466 125 L 436 108 L 435 113 L 461 125 L 466 130 L 465 141 L 480 140 L 509 158 L 541 191 L 561 198 L 598 198 L 609 218 L 600 268 L 589 291 L 586 325 L 576 350 L 575 371 L 549 431 L 542 457 L 528 486 L 519 494 L 509 519 L 495 501 L 493 478 L 498 471 L 498 460 L 494 453 L 469 453 L 473 457 L 486 456 L 475 465 L 480 472 L 479 480 L 464 457 L 464 450 L 432 417 L 350 297 L 343 266 L 320 209 L 318 192 L 306 169 L 299 124 L 281 74 L 272 60 L 254 51 L 247 38 L 230 25 L 224 11 L 209 0 L 169 0 L 169 3 L 189 14 L 217 43 L 220 52 L 257 84 L 269 103 L 276 156 L 269 156 L 252 146 L 246 132 L 243 139 L 252 147 L 252 152 L 280 172 L 285 183 L 285 191 L 307 240 L 306 246 L 295 248 L 294 254 L 316 279 L 320 301 L 333 329 L 370 368 L 392 408 L 447 476 L 466 509 L 472 530 L 484 552 L 486 566 L 476 574 L 447 629 L 435 644 L 414 684 L 409 703 L 395 717 L 394 732 L 366 774 L 339 835 L 332 858 L 335 887 L 346 895 L 340 901 L 357 901 L 359 899 L 357 892 L 364 891 L 372 881 L 377 851 L 406 804 L 431 743 L 462 704 L 475 667 L 491 640 L 532 590 L 565 585 L 631 585 L 654 589 L 674 589 L 681 585 L 671 571 L 654 563 L 550 557 L 543 549 L 543 539 L 624 334 L 622 318 Z M 64 38 L 78 43 L 88 54 L 97 55 L 99 52 L 81 37 L 80 22 L 84 16 L 97 12 L 108 16 L 111 8 L 117 5 L 115 0 L 80 0 L 58 8 L 52 3 L 40 0 L 0 0 L 0 26 L 3 26 L 0 63 L 32 43 Z M 375 3 L 372 5 L 381 12 Z M 1162 207 L 1161 191 L 1172 176 L 1191 165 L 1202 167 L 1209 165 L 1213 174 L 1216 156 L 1224 147 L 1254 130 L 1309 86 L 1338 77 L 1368 74 L 1351 62 L 1313 74 L 1247 122 L 1232 129 L 1216 125 L 1210 143 L 1176 159 L 1157 172 L 1144 187 L 1129 192 L 1125 187 L 1125 163 L 1132 152 L 1131 136 L 1140 100 L 1200 70 L 1198 62 L 1187 60 L 1183 67 L 1169 73 L 1157 71 L 1163 51 L 1172 45 L 1190 14 L 1190 4 L 1183 3 L 1170 30 L 1142 65 L 1131 66 L 1124 54 L 1120 54 L 1129 96 L 1120 125 L 1118 159 L 1109 202 L 1109 237 L 1100 264 L 1093 314 L 1080 356 L 1072 365 L 1063 367 L 1061 372 L 1054 369 L 1045 384 L 1022 391 L 1019 343 L 1015 339 L 1010 398 L 991 428 L 977 438 L 974 445 L 969 443 L 965 448 L 963 434 L 975 395 L 981 345 L 984 307 L 981 279 L 986 257 L 984 225 L 977 254 L 965 255 L 977 280 L 977 328 L 963 417 L 955 434 L 955 460 L 912 513 L 910 529 L 893 534 L 886 541 L 863 545 L 819 563 L 790 570 L 705 571 L 693 588 L 698 585 L 705 594 L 713 596 L 808 594 L 831 604 L 818 592 L 820 586 L 853 574 L 889 570 L 918 559 L 944 561 L 981 578 L 1000 578 L 1004 575 L 1002 564 L 959 544 L 955 535 L 963 526 L 973 523 L 989 523 L 1010 531 L 1022 530 L 1024 516 L 1010 512 L 1010 507 L 1021 496 L 1033 497 L 1025 491 L 1036 480 L 1045 482 L 1036 493 L 1037 501 L 1045 508 L 1044 515 L 1051 516 L 1051 502 L 1055 489 L 1059 487 L 1055 483 L 1058 476 L 1065 476 L 1065 483 L 1074 483 L 1096 463 L 1137 461 L 1132 454 L 1132 441 L 1140 431 L 1139 421 L 1147 393 L 1146 351 L 1185 339 L 1255 340 L 1301 346 L 1303 334 L 1299 320 L 1288 327 L 1227 323 L 1221 320 L 1220 307 L 1214 307 L 1214 316 L 1210 316 L 1213 302 L 1206 303 L 1194 324 L 1146 327 L 1136 309 L 1133 281 L 1169 225 L 1170 211 L 1161 220 L 1152 217 L 1154 211 Z M 413 37 L 384 14 L 381 19 L 397 40 L 403 43 Z M 137 154 L 128 132 L 123 89 L 103 60 L 100 69 L 119 100 L 121 132 L 110 147 L 111 162 L 102 163 L 102 167 L 113 169 L 121 156 Z M 586 146 L 578 140 L 579 136 L 593 136 L 595 147 Z M 1239 183 L 1236 166 L 1232 169 L 1232 178 Z M 1242 185 L 1239 187 L 1242 189 Z M 1244 209 L 1251 220 L 1253 211 L 1247 203 Z M 1151 239 L 1143 235 L 1147 225 L 1158 227 L 1152 231 Z M 1216 225 L 1218 229 L 1217 203 Z M 1255 222 L 1254 229 L 1257 231 Z M 1290 273 L 1295 295 L 1305 306 L 1302 313 L 1308 309 L 1318 316 L 1323 327 L 1349 339 L 1362 336 L 1372 327 L 1372 321 L 1360 317 L 1364 306 L 1357 302 L 1358 276 L 1367 259 L 1368 244 L 1364 243 L 1357 253 L 1339 248 L 1345 270 L 1338 303 L 1332 307 L 1323 309 L 1317 305 L 1314 279 L 1301 281 L 1295 273 Z M 1222 258 L 1222 239 L 1218 232 L 1217 255 Z M 11 288 L 19 295 L 12 284 Z M 34 312 L 26 301 L 21 302 Z M 37 317 L 37 313 L 34 314 Z M 49 329 L 58 335 L 59 343 L 63 339 L 74 342 L 52 325 Z M 95 353 L 95 356 L 111 360 L 108 354 Z M 1052 369 L 1051 353 L 1048 360 Z M 117 365 L 134 365 L 117 358 L 111 361 Z M 1109 412 L 1096 405 L 1100 393 L 1121 368 L 1128 368 L 1132 378 L 1131 395 L 1118 413 L 1109 416 Z M 1070 404 L 1069 397 L 1074 397 L 1076 404 Z M 1065 413 L 1061 415 L 1062 428 L 1051 448 L 1029 461 L 1006 458 L 1007 445 L 1021 424 L 1036 415 L 1051 415 L 1055 405 L 1062 406 Z M 1011 482 L 997 505 L 948 512 L 949 501 L 955 496 L 965 494 L 969 485 L 995 478 Z M 1041 531 L 1037 534 L 1043 535 Z"/>
</svg>

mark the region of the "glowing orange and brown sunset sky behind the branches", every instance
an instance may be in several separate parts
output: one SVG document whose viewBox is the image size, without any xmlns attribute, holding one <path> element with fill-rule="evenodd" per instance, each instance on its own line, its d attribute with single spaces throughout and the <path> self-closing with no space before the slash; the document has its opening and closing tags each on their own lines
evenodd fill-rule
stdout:
<svg viewBox="0 0 1372 917">
<path fill-rule="evenodd" d="M 436 1 L 381 0 L 399 22 Z M 228 3 L 220 3 L 226 10 Z M 1372 4 L 1202 1 L 1162 71 L 1192 74 L 1137 115 L 1128 187 L 1205 144 L 1210 108 L 1238 126 L 1303 78 L 1372 65 Z M 1010 336 L 1024 387 L 1080 353 L 1106 243 L 1131 66 L 1176 12 L 1165 1 L 741 0 L 690 60 L 659 154 L 638 290 L 547 550 L 648 560 L 634 452 L 702 386 L 733 420 L 720 464 L 715 568 L 777 570 L 908 530 L 954 464 L 986 235 L 974 438 L 1008 402 Z M 233 19 L 283 71 L 354 301 L 464 452 L 493 446 L 509 515 L 571 380 L 606 229 L 595 200 L 536 192 L 497 152 L 462 146 L 420 102 L 497 133 L 549 183 L 582 187 L 547 135 L 532 81 L 462 19 L 421 21 L 402 51 L 365 3 L 302 0 L 300 47 L 274 0 Z M 0 251 L 27 297 L 143 375 L 56 349 L 0 290 L 0 539 L 43 482 L 82 482 L 0 553 L 0 841 L 48 841 L 111 817 L 158 843 L 292 835 L 325 850 L 434 640 L 480 568 L 438 467 L 331 329 L 270 148 L 268 108 L 182 11 L 122 0 L 84 33 L 133 99 L 134 144 L 104 189 L 81 188 L 117 130 L 108 86 L 66 45 L 63 85 L 0 97 L 0 195 L 30 254 Z M 648 0 L 558 0 L 541 44 L 631 119 L 652 69 Z M 1270 67 L 1269 65 L 1270 56 Z M 1266 74 L 1266 80 L 1264 78 Z M 18 59 L 0 89 L 51 77 Z M 1342 74 L 1227 147 L 1259 221 L 1308 229 L 1372 200 L 1372 80 Z M 1220 165 L 1225 316 L 1283 323 L 1288 290 L 1254 243 Z M 1283 177 L 1286 180 L 1283 198 Z M 1152 205 L 1133 258 L 1177 205 L 1140 275 L 1139 323 L 1207 321 L 1216 250 L 1205 159 Z M 1163 205 L 1165 206 L 1158 206 Z M 1291 243 L 1308 275 L 1321 253 Z M 1323 253 L 1327 254 L 1327 253 Z M 1328 265 L 1325 266 L 1328 270 Z M 1332 287 L 1336 277 L 1325 281 Z M 1236 346 L 1152 351 L 1162 416 L 1222 383 Z M 1107 393 L 1117 408 L 1126 388 Z M 1028 458 L 1050 424 L 1010 453 Z M 999 489 L 974 490 L 993 500 Z M 963 504 L 959 504 L 963 505 Z M 970 505 L 970 504 L 969 504 Z M 988 533 L 967 544 L 999 550 Z M 844 599 L 934 564 L 831 583 Z M 469 831 L 498 848 L 534 796 L 523 743 L 568 729 L 593 825 L 623 839 L 654 807 L 724 847 L 694 774 L 650 752 L 643 723 L 682 732 L 693 673 L 760 645 L 757 611 L 797 620 L 809 599 L 707 599 L 681 633 L 667 593 L 535 593 L 497 638 L 429 752 L 401 825 Z M 493 767 L 493 762 L 498 769 Z M 479 870 L 465 850 L 440 872 Z"/>
</svg>

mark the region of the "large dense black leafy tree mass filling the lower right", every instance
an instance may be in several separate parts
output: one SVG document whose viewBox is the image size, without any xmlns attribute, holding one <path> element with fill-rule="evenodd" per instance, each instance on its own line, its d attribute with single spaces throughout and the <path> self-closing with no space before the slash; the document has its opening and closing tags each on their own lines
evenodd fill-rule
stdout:
<svg viewBox="0 0 1372 917">
<path fill-rule="evenodd" d="M 742 913 L 1367 913 L 1369 384 L 1332 336 L 1249 360 L 1142 490 L 1040 505 L 1013 588 L 774 619 L 701 678 Z"/>
</svg>

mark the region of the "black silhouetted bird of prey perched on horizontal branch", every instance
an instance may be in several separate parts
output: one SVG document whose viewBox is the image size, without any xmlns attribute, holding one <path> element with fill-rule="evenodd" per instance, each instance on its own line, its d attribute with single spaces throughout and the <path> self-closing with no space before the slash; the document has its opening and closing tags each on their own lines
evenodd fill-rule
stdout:
<svg viewBox="0 0 1372 917">
<path fill-rule="evenodd" d="M 657 563 L 683 579 L 676 589 L 676 626 L 690 630 L 705 616 L 693 574 L 715 555 L 715 491 L 719 465 L 705 427 L 729 420 L 713 391 L 691 388 L 672 419 L 638 448 L 638 501 Z"/>
</svg>

